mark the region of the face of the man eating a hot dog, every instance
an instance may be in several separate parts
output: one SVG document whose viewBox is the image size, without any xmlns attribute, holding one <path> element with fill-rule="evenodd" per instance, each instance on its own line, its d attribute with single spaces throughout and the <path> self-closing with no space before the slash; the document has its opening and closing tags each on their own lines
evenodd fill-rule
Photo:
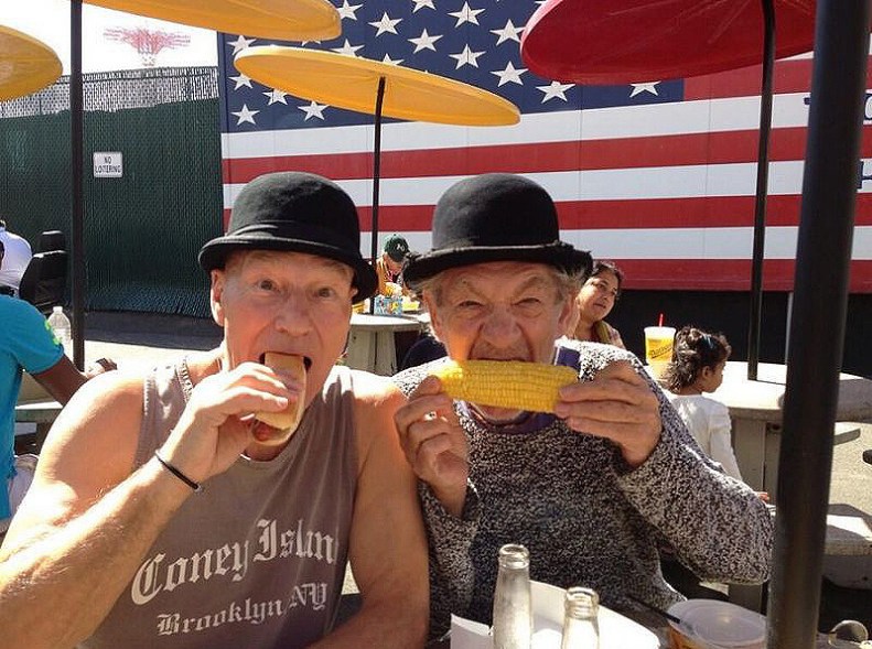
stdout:
<svg viewBox="0 0 872 649">
<path fill-rule="evenodd" d="M 311 361 L 306 405 L 321 391 L 345 348 L 352 313 L 353 271 L 313 255 L 256 250 L 230 255 L 212 271 L 212 313 L 224 327 L 225 368 L 266 351 Z"/>
</svg>

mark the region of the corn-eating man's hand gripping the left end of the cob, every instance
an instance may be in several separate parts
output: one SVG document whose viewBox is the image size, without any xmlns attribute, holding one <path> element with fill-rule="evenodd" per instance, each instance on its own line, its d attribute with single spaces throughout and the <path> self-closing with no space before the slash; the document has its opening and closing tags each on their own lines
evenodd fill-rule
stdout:
<svg viewBox="0 0 872 649">
<path fill-rule="evenodd" d="M 466 435 L 452 399 L 427 377 L 394 415 L 400 446 L 416 475 L 430 485 L 448 511 L 460 516 L 470 475 Z"/>
</svg>

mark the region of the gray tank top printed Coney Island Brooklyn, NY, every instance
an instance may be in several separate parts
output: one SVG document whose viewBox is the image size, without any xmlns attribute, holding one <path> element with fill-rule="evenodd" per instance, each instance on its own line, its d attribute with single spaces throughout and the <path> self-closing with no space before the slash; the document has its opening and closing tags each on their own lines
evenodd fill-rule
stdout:
<svg viewBox="0 0 872 649">
<path fill-rule="evenodd" d="M 184 361 L 146 380 L 137 466 L 179 421 Z M 357 456 L 352 372 L 337 367 L 270 462 L 240 456 L 192 495 L 82 647 L 305 647 L 334 623 Z"/>
</svg>

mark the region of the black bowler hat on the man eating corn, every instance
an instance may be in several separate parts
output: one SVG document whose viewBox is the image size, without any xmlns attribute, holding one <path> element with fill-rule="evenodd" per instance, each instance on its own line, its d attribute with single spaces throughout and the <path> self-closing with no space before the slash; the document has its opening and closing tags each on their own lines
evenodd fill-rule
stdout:
<svg viewBox="0 0 872 649">
<path fill-rule="evenodd" d="M 590 273 L 591 256 L 560 240 L 557 208 L 541 186 L 489 173 L 455 183 L 433 212 L 433 248 L 402 271 L 415 286 L 434 274 L 485 261 L 531 261 Z"/>
</svg>

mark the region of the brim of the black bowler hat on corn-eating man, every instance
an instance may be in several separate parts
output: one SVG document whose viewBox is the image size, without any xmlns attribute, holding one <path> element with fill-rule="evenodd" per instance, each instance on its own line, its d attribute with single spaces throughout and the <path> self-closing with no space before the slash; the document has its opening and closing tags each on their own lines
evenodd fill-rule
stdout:
<svg viewBox="0 0 872 649">
<path fill-rule="evenodd" d="M 553 266 L 569 273 L 590 274 L 593 260 L 590 252 L 577 250 L 562 241 L 543 246 L 472 246 L 445 248 L 410 257 L 402 271 L 402 278 L 412 289 L 416 284 L 433 275 L 462 266 L 488 261 L 528 261 Z"/>
</svg>

